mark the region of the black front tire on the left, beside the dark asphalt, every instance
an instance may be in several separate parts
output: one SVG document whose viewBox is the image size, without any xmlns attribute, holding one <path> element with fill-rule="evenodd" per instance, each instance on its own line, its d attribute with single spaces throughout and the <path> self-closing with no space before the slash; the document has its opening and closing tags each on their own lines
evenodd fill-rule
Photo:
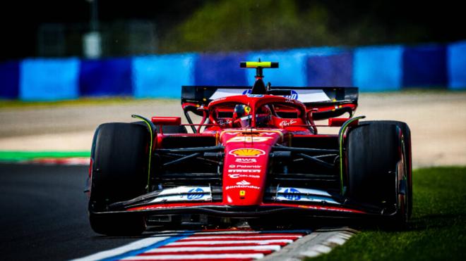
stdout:
<svg viewBox="0 0 466 261">
<path fill-rule="evenodd" d="M 108 205 L 146 193 L 148 179 L 148 129 L 131 123 L 100 125 L 92 144 L 92 183 L 89 220 L 92 229 L 106 235 L 135 235 L 145 230 L 141 215 L 96 214 Z"/>
</svg>

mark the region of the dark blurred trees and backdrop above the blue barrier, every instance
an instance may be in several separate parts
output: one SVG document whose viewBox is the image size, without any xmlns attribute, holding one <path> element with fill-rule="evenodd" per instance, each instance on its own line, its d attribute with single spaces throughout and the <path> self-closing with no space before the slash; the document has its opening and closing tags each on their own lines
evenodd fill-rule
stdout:
<svg viewBox="0 0 466 261">
<path fill-rule="evenodd" d="M 465 39 L 462 15 L 458 1 L 7 1 L 1 60 L 446 44 Z"/>
</svg>

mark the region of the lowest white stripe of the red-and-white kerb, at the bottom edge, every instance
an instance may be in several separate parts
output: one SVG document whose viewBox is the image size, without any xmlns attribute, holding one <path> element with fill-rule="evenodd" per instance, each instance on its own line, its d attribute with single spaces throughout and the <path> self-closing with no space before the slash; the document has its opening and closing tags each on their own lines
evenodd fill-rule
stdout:
<svg viewBox="0 0 466 261">
<path fill-rule="evenodd" d="M 259 259 L 264 257 L 264 254 L 201 254 L 201 255 L 157 255 L 154 258 L 151 255 L 136 255 L 133 257 L 126 257 L 121 260 L 205 260 L 205 259 L 246 259 L 246 258 L 253 258 Z"/>
</svg>

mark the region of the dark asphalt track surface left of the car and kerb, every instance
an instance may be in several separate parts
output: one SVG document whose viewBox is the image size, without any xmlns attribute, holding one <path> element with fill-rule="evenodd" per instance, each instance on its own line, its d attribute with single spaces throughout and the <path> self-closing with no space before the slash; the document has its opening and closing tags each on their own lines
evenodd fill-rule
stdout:
<svg viewBox="0 0 466 261">
<path fill-rule="evenodd" d="M 140 238 L 95 234 L 86 166 L 0 164 L 0 260 L 69 260 Z"/>
</svg>

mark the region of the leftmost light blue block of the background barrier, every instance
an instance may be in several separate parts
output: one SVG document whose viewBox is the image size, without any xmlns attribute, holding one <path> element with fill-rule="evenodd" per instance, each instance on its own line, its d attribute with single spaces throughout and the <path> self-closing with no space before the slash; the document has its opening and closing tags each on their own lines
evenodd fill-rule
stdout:
<svg viewBox="0 0 466 261">
<path fill-rule="evenodd" d="M 79 63 L 78 58 L 23 60 L 19 98 L 23 101 L 78 98 Z"/>
</svg>

